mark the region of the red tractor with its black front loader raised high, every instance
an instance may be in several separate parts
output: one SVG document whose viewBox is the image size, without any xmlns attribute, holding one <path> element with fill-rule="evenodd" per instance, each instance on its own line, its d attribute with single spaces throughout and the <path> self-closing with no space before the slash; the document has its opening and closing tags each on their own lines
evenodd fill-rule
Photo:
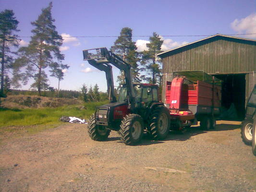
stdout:
<svg viewBox="0 0 256 192">
<path fill-rule="evenodd" d="M 133 84 L 131 66 L 107 48 L 83 50 L 84 60 L 106 73 L 109 104 L 96 108 L 88 121 L 89 136 L 104 141 L 110 131 L 118 131 L 124 144 L 140 142 L 146 129 L 154 139 L 164 139 L 170 131 L 170 112 L 158 98 L 158 85 Z M 118 99 L 114 93 L 112 66 L 124 72 Z"/>
</svg>

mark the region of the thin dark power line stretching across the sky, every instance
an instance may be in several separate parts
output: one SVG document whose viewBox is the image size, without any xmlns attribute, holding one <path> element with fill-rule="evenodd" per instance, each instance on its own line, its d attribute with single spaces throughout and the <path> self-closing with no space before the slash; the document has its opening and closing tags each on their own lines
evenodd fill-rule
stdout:
<svg viewBox="0 0 256 192">
<path fill-rule="evenodd" d="M 216 34 L 215 34 L 216 35 Z M 248 34 L 227 34 L 223 36 L 245 36 L 245 35 L 256 35 L 256 33 Z M 167 35 L 162 37 L 192 37 L 192 36 L 214 36 L 214 35 Z M 0 36 L 2 37 L 2 36 Z M 17 36 L 18 38 L 31 38 L 32 36 Z M 119 37 L 119 36 L 62 36 L 62 38 L 96 38 L 96 37 Z M 133 37 L 151 37 L 151 36 L 133 36 Z M 50 37 L 46 37 L 50 38 Z"/>
</svg>

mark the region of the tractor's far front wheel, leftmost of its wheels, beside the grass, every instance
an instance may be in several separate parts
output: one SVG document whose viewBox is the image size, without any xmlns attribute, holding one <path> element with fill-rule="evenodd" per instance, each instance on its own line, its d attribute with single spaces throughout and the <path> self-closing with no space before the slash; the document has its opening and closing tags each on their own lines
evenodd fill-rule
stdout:
<svg viewBox="0 0 256 192">
<path fill-rule="evenodd" d="M 88 133 L 92 140 L 105 141 L 110 135 L 110 130 L 103 125 L 97 125 L 94 114 L 88 120 Z"/>
</svg>

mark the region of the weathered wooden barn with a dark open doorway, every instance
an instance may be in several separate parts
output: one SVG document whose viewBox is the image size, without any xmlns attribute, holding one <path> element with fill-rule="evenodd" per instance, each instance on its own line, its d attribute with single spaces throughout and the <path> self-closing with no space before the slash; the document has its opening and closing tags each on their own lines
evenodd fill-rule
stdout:
<svg viewBox="0 0 256 192">
<path fill-rule="evenodd" d="M 244 118 L 246 100 L 256 84 L 256 40 L 215 35 L 158 54 L 163 65 L 162 100 L 166 81 L 175 71 L 203 70 L 222 83 L 222 106 L 233 103 Z"/>
</svg>

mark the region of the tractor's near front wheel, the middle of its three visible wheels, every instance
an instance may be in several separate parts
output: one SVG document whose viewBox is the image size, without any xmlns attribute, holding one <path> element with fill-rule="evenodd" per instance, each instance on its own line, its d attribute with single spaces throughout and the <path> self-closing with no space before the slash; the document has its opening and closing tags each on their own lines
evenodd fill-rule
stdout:
<svg viewBox="0 0 256 192">
<path fill-rule="evenodd" d="M 137 114 L 126 115 L 120 125 L 122 143 L 134 145 L 140 142 L 144 131 L 144 123 L 141 116 Z"/>
</svg>

